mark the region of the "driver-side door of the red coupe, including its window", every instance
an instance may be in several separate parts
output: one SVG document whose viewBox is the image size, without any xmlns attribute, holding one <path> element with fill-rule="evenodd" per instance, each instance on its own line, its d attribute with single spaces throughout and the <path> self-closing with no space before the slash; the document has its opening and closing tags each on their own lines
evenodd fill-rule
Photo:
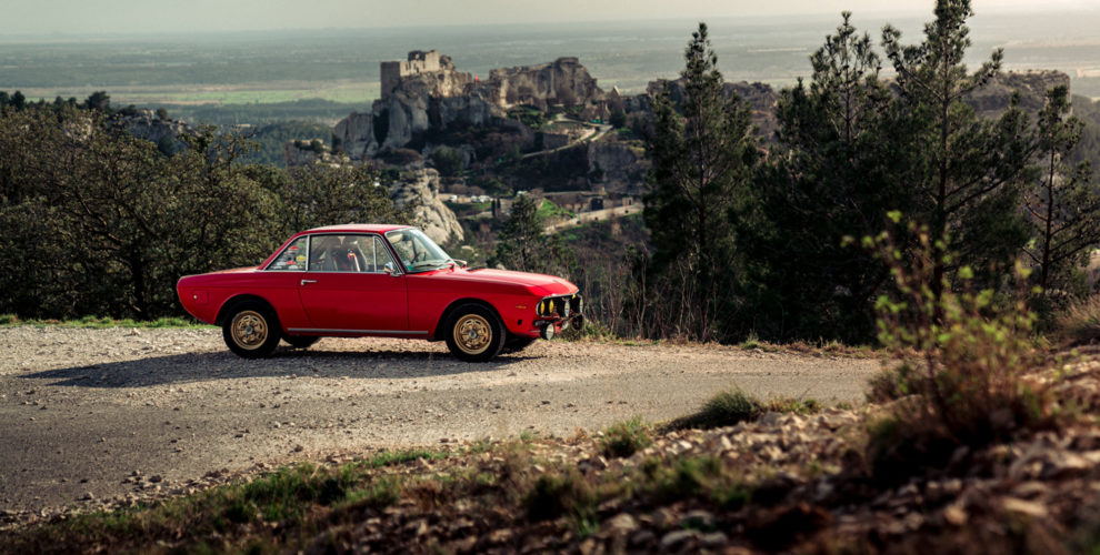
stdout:
<svg viewBox="0 0 1100 555">
<path fill-rule="evenodd" d="M 397 268 L 378 235 L 311 235 L 309 269 L 299 286 L 310 331 L 406 334 L 406 278 L 389 273 L 387 264 Z"/>
</svg>

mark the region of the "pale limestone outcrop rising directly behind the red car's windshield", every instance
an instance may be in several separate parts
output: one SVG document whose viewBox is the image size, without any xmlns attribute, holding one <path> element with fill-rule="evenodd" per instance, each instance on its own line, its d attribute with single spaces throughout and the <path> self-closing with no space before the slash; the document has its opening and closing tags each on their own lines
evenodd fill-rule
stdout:
<svg viewBox="0 0 1100 555">
<path fill-rule="evenodd" d="M 439 200 L 439 172 L 432 169 L 401 173 L 390 185 L 390 199 L 398 208 L 411 206 L 417 225 L 432 241 L 444 245 L 463 238 L 454 212 Z"/>
</svg>

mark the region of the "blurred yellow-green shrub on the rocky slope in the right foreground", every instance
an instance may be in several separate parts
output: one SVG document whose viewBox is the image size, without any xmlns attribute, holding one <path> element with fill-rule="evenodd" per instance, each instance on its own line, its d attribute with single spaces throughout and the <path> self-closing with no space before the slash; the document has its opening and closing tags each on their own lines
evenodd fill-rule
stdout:
<svg viewBox="0 0 1100 555">
<path fill-rule="evenodd" d="M 900 215 L 896 214 L 900 220 Z M 883 397 L 911 395 L 871 430 L 869 460 L 883 480 L 902 480 L 923 468 L 942 467 L 960 446 L 980 447 L 1020 431 L 1052 426 L 1048 391 L 1027 381 L 1041 354 L 1031 337 L 1034 315 L 1026 295 L 998 305 L 992 290 L 973 292 L 973 273 L 958 272 L 962 290 L 931 281 L 937 268 L 929 231 L 910 223 L 919 250 L 906 256 L 889 233 L 863 243 L 890 268 L 897 296 L 879 297 L 879 341 L 900 361 L 876 385 Z M 1027 270 L 1017 265 L 1021 281 Z"/>
</svg>

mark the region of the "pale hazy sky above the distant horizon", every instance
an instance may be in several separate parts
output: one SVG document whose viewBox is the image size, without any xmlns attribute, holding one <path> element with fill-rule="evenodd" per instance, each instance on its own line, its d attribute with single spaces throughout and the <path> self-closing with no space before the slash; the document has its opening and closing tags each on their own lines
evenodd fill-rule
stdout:
<svg viewBox="0 0 1100 555">
<path fill-rule="evenodd" d="M 974 11 L 1100 8 L 1100 0 L 972 0 Z M 0 0 L 0 34 L 410 27 L 798 13 L 924 12 L 934 0 Z"/>
</svg>

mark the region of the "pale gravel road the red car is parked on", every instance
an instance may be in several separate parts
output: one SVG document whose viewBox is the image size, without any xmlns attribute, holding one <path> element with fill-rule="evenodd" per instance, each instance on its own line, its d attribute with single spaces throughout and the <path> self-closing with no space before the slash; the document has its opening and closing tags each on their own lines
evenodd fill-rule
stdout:
<svg viewBox="0 0 1100 555">
<path fill-rule="evenodd" d="M 710 345 L 536 342 L 468 364 L 441 343 L 326 339 L 271 359 L 220 330 L 0 327 L 0 509 L 41 511 L 211 471 L 409 446 L 570 436 L 688 414 L 737 384 L 859 401 L 871 360 Z M 159 480 L 150 477 L 159 477 Z"/>
</svg>

